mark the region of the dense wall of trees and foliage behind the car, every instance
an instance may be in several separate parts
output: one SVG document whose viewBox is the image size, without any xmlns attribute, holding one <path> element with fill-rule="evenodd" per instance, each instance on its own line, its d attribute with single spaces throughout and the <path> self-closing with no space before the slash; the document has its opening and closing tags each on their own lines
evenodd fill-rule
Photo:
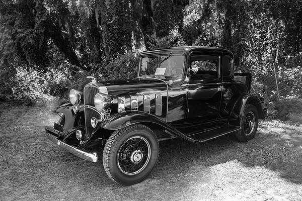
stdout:
<svg viewBox="0 0 302 201">
<path fill-rule="evenodd" d="M 0 0 L 0 22 L 1 100 L 131 78 L 142 50 L 223 46 L 269 108 L 302 112 L 302 0 Z"/>
</svg>

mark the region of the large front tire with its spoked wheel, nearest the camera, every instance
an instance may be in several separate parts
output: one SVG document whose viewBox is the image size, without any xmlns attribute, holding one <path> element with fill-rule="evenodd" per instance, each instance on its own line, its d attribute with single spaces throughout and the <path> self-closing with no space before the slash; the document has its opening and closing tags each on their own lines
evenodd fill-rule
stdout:
<svg viewBox="0 0 302 201">
<path fill-rule="evenodd" d="M 143 181 L 156 165 L 159 143 L 148 127 L 135 124 L 115 131 L 103 152 L 107 175 L 116 183 L 133 185 Z"/>
</svg>

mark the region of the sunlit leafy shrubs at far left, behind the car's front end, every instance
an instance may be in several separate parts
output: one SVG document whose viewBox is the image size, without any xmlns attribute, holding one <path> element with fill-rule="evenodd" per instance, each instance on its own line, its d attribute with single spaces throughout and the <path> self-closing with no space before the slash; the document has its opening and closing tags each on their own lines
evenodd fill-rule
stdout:
<svg viewBox="0 0 302 201">
<path fill-rule="evenodd" d="M 82 89 L 90 81 L 87 71 L 72 71 L 68 64 L 49 68 L 43 73 L 36 65 L 20 65 L 12 72 L 2 73 L 1 96 L 6 100 L 33 103 L 55 96 L 68 97 L 70 88 Z"/>
</svg>

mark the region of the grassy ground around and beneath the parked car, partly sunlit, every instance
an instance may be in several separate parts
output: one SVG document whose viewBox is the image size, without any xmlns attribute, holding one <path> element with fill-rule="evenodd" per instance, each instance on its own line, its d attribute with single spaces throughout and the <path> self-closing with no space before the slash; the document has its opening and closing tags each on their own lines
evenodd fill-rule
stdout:
<svg viewBox="0 0 302 201">
<path fill-rule="evenodd" d="M 56 148 L 44 135 L 54 105 L 0 105 L 0 200 L 302 200 L 302 126 L 261 121 L 254 140 L 160 143 L 143 182 L 121 186 L 103 163 Z"/>
</svg>

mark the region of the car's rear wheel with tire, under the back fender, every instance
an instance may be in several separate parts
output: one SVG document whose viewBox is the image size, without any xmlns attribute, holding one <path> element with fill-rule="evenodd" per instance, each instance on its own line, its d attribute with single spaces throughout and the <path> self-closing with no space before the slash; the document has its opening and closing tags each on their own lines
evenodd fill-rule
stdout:
<svg viewBox="0 0 302 201">
<path fill-rule="evenodd" d="M 236 138 L 240 142 L 252 140 L 258 128 L 258 111 L 255 106 L 248 104 L 244 109 L 241 119 L 241 129 L 235 133 Z"/>
</svg>

